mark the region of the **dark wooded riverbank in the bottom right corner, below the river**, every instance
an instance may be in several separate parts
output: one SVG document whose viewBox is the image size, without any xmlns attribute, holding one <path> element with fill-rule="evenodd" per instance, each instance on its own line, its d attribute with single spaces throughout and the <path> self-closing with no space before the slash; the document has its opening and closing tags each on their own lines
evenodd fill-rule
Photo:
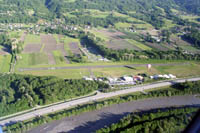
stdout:
<svg viewBox="0 0 200 133">
<path fill-rule="evenodd" d="M 195 107 L 182 107 L 132 113 L 118 123 L 113 123 L 96 133 L 181 132 L 189 124 L 198 109 Z"/>
</svg>

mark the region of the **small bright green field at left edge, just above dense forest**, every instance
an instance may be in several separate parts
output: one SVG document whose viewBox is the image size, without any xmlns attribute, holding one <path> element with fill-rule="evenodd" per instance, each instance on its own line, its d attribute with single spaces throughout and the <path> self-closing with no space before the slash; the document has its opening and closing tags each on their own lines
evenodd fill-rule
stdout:
<svg viewBox="0 0 200 133">
<path fill-rule="evenodd" d="M 0 55 L 0 72 L 9 72 L 11 55 Z"/>
</svg>

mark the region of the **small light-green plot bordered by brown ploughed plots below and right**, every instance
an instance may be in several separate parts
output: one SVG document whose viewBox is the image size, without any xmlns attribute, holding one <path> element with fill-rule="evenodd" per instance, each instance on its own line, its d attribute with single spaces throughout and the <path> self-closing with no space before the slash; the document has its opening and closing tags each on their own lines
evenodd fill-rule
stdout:
<svg viewBox="0 0 200 133">
<path fill-rule="evenodd" d="M 27 45 L 27 44 L 40 44 L 40 43 L 41 43 L 41 39 L 40 39 L 39 35 L 28 34 L 25 37 L 25 40 L 24 40 L 25 45 Z"/>
</svg>

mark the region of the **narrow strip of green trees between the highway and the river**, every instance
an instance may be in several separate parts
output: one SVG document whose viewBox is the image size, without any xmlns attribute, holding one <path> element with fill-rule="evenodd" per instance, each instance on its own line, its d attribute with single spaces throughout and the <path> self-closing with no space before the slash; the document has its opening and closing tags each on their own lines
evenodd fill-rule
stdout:
<svg viewBox="0 0 200 133">
<path fill-rule="evenodd" d="M 5 131 L 10 131 L 13 133 L 26 132 L 31 128 L 34 128 L 38 125 L 53 121 L 60 120 L 64 117 L 69 117 L 72 115 L 77 115 L 82 112 L 88 112 L 96 109 L 101 109 L 103 107 L 110 106 L 112 104 L 119 104 L 124 102 L 129 102 L 133 100 L 145 99 L 145 98 L 155 98 L 155 97 L 165 97 L 165 96 L 175 96 L 175 95 L 186 95 L 186 94 L 200 94 L 200 81 L 196 82 L 186 82 L 174 85 L 171 88 L 161 89 L 159 91 L 153 90 L 148 92 L 147 94 L 128 94 L 124 96 L 118 96 L 110 99 L 106 99 L 104 101 L 96 101 L 93 103 L 80 105 L 75 108 L 69 110 L 63 110 L 54 114 L 49 114 L 41 117 L 34 118 L 32 120 L 28 120 L 26 122 L 18 122 L 16 124 L 7 126 Z M 193 89 L 196 88 L 196 89 Z M 176 111 L 175 111 L 176 112 Z M 165 113 L 164 113 L 165 114 Z M 153 116 L 153 115 L 152 115 Z M 145 116 L 147 117 L 147 116 Z M 149 118 L 149 117 L 147 117 Z M 173 118 L 171 119 L 173 120 Z M 175 120 L 177 121 L 177 120 Z M 182 121 L 183 122 L 183 121 Z M 149 127 L 148 127 L 149 128 Z M 107 129 L 106 129 L 107 130 Z M 103 129 L 104 131 L 104 129 Z"/>
</svg>

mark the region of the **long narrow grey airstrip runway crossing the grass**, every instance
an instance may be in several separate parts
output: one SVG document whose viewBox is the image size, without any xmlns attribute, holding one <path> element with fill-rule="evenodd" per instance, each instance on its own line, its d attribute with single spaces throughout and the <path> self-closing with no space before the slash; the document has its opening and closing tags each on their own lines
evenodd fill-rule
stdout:
<svg viewBox="0 0 200 133">
<path fill-rule="evenodd" d="M 170 64 L 152 64 L 152 66 L 180 66 L 189 63 L 170 63 Z M 55 69 L 88 69 L 88 68 L 118 68 L 118 67 L 140 67 L 147 66 L 147 64 L 131 64 L 131 65 L 97 65 L 97 66 L 66 66 L 66 67 L 40 67 L 40 68 L 19 68 L 23 71 L 37 71 L 37 70 L 55 70 Z"/>
</svg>

